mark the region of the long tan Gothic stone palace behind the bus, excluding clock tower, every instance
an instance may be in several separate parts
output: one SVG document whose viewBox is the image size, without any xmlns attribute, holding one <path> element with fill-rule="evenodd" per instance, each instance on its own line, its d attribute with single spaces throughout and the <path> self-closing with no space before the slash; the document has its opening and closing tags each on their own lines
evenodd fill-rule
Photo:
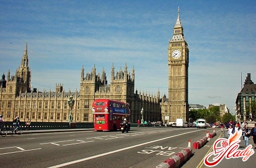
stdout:
<svg viewBox="0 0 256 168">
<path fill-rule="evenodd" d="M 78 82 L 78 81 L 77 81 Z M 105 70 L 102 74 L 96 74 L 94 65 L 91 72 L 84 74 L 81 69 L 80 91 L 65 92 L 63 85 L 56 84 L 55 91 L 31 90 L 31 72 L 28 67 L 27 44 L 22 57 L 21 65 L 15 75 L 10 76 L 10 70 L 5 79 L 2 75 L 0 81 L 0 114 L 5 121 L 12 121 L 19 116 L 21 121 L 30 117 L 31 121 L 42 122 L 67 122 L 69 107 L 67 100 L 69 96 L 75 99 L 72 110 L 73 121 L 92 122 L 92 103 L 99 98 L 113 99 L 130 104 L 131 122 L 141 120 L 141 109 L 144 109 L 144 120 L 160 121 L 160 93 L 148 95 L 136 90 L 134 93 L 135 70 L 131 74 L 127 72 L 125 64 L 124 71 L 120 69 L 114 72 L 112 66 L 110 85 L 106 78 Z"/>
</svg>

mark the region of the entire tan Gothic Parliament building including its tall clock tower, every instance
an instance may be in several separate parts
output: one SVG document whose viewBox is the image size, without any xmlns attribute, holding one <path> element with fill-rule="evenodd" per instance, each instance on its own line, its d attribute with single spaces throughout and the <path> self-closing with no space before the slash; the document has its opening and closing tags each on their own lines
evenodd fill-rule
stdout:
<svg viewBox="0 0 256 168">
<path fill-rule="evenodd" d="M 15 75 L 10 70 L 0 80 L 0 114 L 5 121 L 19 116 L 20 121 L 67 122 L 69 106 L 67 100 L 72 95 L 73 122 L 93 122 L 92 103 L 95 99 L 113 99 L 130 104 L 130 121 L 176 121 L 182 117 L 188 120 L 188 45 L 184 39 L 179 10 L 174 26 L 174 34 L 168 46 L 168 98 L 164 95 L 144 93 L 134 89 L 135 70 L 128 71 L 127 65 L 115 72 L 111 67 L 110 84 L 105 70 L 96 73 L 96 66 L 85 73 L 81 68 L 80 90 L 64 91 L 56 84 L 54 91 L 31 89 L 31 70 L 28 66 L 28 47 Z M 78 82 L 78 81 L 77 81 Z"/>
</svg>

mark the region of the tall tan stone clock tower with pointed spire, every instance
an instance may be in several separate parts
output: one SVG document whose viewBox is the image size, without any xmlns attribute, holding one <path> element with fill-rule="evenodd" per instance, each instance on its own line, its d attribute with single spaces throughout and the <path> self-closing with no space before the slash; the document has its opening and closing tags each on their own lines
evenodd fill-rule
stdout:
<svg viewBox="0 0 256 168">
<path fill-rule="evenodd" d="M 170 121 L 188 121 L 188 43 L 184 39 L 179 8 L 174 35 L 168 46 L 168 99 Z"/>
</svg>

